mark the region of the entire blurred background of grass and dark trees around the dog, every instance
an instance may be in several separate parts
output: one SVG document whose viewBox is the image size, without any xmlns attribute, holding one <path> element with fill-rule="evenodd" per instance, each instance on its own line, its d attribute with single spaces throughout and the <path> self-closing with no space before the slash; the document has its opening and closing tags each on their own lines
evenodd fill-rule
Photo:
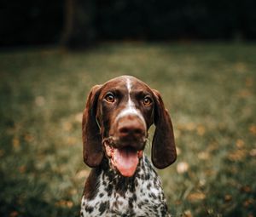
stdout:
<svg viewBox="0 0 256 217">
<path fill-rule="evenodd" d="M 255 11 L 253 0 L 1 1 L 0 215 L 79 216 L 86 96 L 129 74 L 171 113 L 177 162 L 158 172 L 172 215 L 255 216 Z"/>
</svg>

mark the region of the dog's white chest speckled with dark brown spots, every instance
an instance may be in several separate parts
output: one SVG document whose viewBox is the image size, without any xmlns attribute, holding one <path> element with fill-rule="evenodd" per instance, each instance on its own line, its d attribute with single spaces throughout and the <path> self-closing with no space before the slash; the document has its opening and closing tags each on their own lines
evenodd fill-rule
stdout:
<svg viewBox="0 0 256 217">
<path fill-rule="evenodd" d="M 168 216 L 160 178 L 143 157 L 133 180 L 102 172 L 96 195 L 83 197 L 82 216 Z"/>
</svg>

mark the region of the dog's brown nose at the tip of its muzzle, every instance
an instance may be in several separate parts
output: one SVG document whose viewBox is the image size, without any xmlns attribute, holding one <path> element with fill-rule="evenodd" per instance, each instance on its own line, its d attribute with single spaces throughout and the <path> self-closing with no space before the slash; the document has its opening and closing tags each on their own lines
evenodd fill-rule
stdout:
<svg viewBox="0 0 256 217">
<path fill-rule="evenodd" d="M 131 136 L 139 139 L 145 136 L 146 129 L 143 122 L 136 116 L 126 116 L 119 120 L 118 132 L 120 137 Z"/>
</svg>

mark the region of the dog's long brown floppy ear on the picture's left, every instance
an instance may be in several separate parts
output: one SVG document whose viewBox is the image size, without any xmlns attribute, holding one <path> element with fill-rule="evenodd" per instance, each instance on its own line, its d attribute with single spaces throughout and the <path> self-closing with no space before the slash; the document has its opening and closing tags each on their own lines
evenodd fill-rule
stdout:
<svg viewBox="0 0 256 217">
<path fill-rule="evenodd" d="M 89 167 L 96 167 L 102 163 L 102 136 L 96 122 L 97 100 L 101 92 L 101 85 L 90 90 L 83 114 L 83 155 L 84 163 Z"/>
</svg>

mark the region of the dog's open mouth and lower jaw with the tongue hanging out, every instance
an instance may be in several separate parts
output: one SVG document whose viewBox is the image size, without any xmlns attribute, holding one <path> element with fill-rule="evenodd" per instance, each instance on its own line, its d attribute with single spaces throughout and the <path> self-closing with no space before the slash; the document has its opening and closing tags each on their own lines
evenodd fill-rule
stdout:
<svg viewBox="0 0 256 217">
<path fill-rule="evenodd" d="M 116 145 L 109 145 L 104 142 L 105 151 L 110 159 L 112 167 L 125 177 L 135 174 L 140 158 L 143 157 L 143 150 L 137 150 L 132 146 L 117 148 Z"/>
</svg>

